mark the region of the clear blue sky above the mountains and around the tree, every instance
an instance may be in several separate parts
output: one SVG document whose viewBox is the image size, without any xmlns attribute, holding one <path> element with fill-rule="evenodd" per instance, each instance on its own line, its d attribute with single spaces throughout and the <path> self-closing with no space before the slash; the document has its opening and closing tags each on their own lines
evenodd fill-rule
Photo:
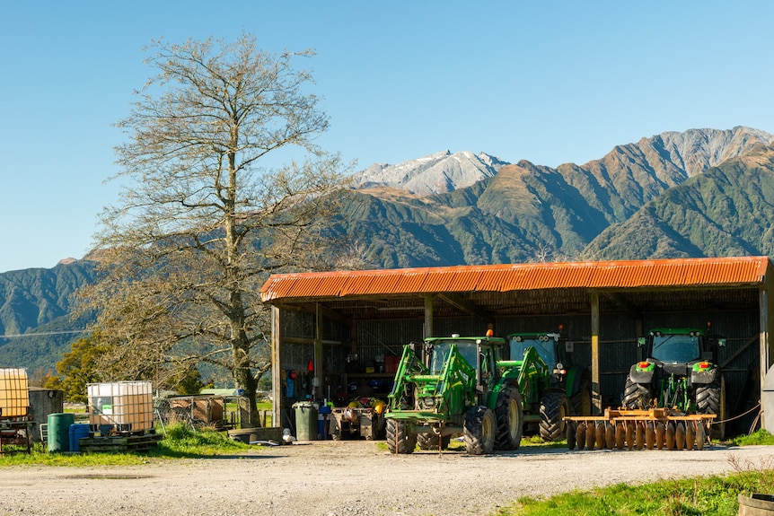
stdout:
<svg viewBox="0 0 774 516">
<path fill-rule="evenodd" d="M 774 132 L 774 2 L 0 2 L 0 272 L 82 258 L 151 39 L 314 48 L 320 143 L 557 166 L 664 131 Z"/>
</svg>

